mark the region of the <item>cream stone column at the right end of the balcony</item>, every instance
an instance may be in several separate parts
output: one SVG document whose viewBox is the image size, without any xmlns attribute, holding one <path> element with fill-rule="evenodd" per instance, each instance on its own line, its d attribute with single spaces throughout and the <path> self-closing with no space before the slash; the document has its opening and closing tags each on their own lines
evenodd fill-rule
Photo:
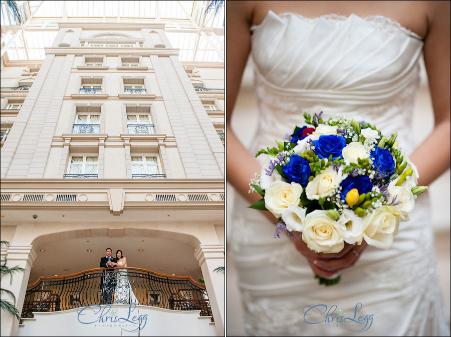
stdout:
<svg viewBox="0 0 451 337">
<path fill-rule="evenodd" d="M 201 244 L 194 254 L 202 269 L 218 336 L 225 333 L 225 275 L 213 270 L 225 266 L 224 251 L 223 244 Z"/>
</svg>

